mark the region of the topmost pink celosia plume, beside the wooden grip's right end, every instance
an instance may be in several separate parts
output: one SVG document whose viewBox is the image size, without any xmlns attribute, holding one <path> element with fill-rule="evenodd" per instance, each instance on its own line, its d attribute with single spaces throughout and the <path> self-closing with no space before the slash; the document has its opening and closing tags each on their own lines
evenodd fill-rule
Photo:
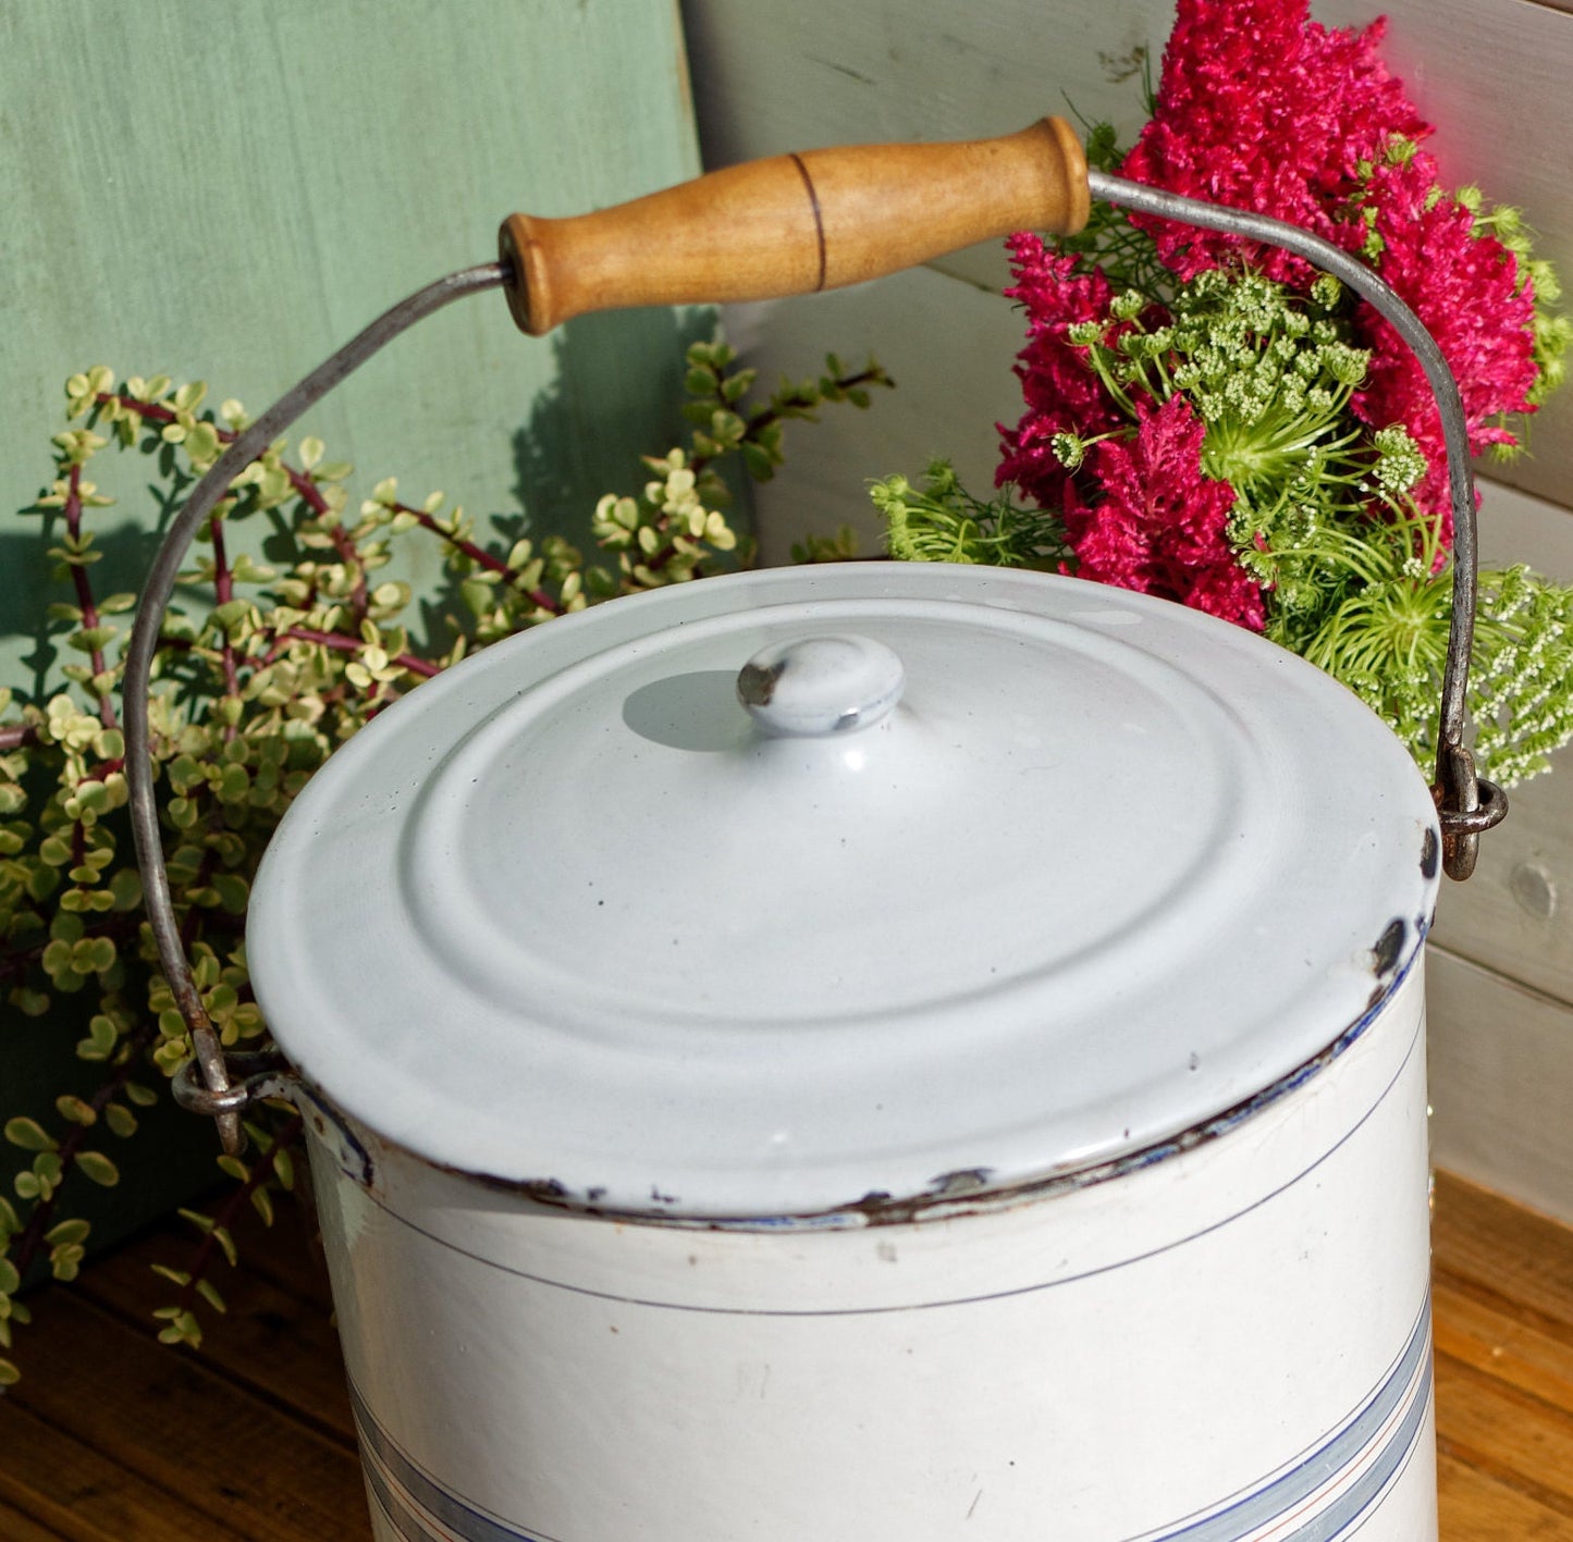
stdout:
<svg viewBox="0 0 1573 1542">
<path fill-rule="evenodd" d="M 1156 108 L 1122 174 L 1337 240 L 1361 163 L 1431 132 L 1376 57 L 1383 30 L 1321 27 L 1309 0 L 1180 0 Z M 1230 261 L 1295 285 L 1313 277 L 1277 247 L 1131 218 L 1181 278 Z"/>
</svg>

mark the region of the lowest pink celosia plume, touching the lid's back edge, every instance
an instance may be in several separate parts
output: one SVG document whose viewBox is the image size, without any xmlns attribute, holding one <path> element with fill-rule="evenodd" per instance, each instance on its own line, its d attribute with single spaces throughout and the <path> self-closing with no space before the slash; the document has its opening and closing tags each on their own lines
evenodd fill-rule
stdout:
<svg viewBox="0 0 1573 1542">
<path fill-rule="evenodd" d="M 1134 439 L 1092 446 L 1100 498 L 1084 506 L 1071 486 L 1065 508 L 1076 571 L 1260 632 L 1262 589 L 1225 533 L 1235 489 L 1202 473 L 1202 437 L 1191 402 L 1170 396 L 1142 418 Z"/>
</svg>

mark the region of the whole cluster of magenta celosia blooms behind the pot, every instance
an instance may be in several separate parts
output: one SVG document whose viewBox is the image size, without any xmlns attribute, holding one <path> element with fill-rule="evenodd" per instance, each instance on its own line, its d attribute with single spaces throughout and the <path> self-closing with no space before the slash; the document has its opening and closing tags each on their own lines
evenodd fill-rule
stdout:
<svg viewBox="0 0 1573 1542">
<path fill-rule="evenodd" d="M 1307 0 L 1178 0 L 1151 119 L 1120 174 L 1290 220 L 1364 255 L 1431 330 L 1458 377 L 1474 450 L 1512 445 L 1504 420 L 1534 410 L 1535 296 L 1529 275 L 1464 201 L 1438 182 L 1431 126 L 1378 57 L 1383 22 L 1339 30 Z M 1301 258 L 1229 234 L 1129 217 L 1184 283 L 1205 269 L 1249 270 L 1309 292 Z M 1038 237 L 1011 237 L 1029 318 L 1018 362 L 1026 412 L 1000 428 L 999 481 L 1060 511 L 1084 577 L 1181 600 L 1262 630 L 1271 594 L 1229 538 L 1235 490 L 1203 472 L 1205 426 L 1183 390 L 1117 404 L 1071 329 L 1118 340 L 1104 272 Z M 1144 318 L 1148 330 L 1159 314 Z M 1450 544 L 1441 428 L 1408 347 L 1367 307 L 1348 341 L 1370 352 L 1350 401 L 1369 429 L 1402 424 L 1427 461 L 1408 492 Z M 1082 336 L 1085 327 L 1082 325 Z M 1134 423 L 1131 407 L 1134 406 Z M 1063 435 L 1087 445 L 1063 454 Z M 1104 437 L 1107 435 L 1107 437 Z"/>
</svg>

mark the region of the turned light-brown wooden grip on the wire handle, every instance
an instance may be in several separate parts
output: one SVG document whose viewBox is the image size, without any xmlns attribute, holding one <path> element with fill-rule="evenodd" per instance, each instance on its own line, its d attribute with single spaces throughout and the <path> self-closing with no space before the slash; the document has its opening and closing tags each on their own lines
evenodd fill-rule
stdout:
<svg viewBox="0 0 1573 1542">
<path fill-rule="evenodd" d="M 513 319 L 540 336 L 585 311 L 810 294 L 1013 229 L 1087 222 L 1087 162 L 1062 118 L 997 140 L 853 145 L 711 171 L 566 220 L 510 215 Z"/>
</svg>

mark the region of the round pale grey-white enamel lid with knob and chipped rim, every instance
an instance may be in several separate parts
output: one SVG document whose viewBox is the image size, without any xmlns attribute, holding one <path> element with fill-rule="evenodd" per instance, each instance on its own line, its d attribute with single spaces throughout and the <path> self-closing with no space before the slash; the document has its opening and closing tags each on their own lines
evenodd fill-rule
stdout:
<svg viewBox="0 0 1573 1542">
<path fill-rule="evenodd" d="M 247 951 L 340 1108 L 566 1202 L 835 1213 L 1151 1147 L 1380 1009 L 1425 783 L 1342 685 L 1073 578 L 853 563 L 568 616 L 285 817 Z"/>
</svg>

